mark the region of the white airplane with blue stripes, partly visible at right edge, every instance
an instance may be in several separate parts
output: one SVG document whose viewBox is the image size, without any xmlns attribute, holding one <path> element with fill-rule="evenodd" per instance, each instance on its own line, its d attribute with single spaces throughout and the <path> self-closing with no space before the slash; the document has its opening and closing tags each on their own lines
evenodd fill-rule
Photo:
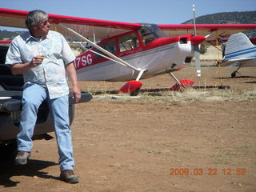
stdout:
<svg viewBox="0 0 256 192">
<path fill-rule="evenodd" d="M 256 66 L 256 46 L 246 34 L 238 33 L 230 35 L 224 44 L 224 58 L 221 66 L 238 66 L 238 70 L 244 66 Z M 238 70 L 235 70 L 231 77 L 236 77 Z"/>
</svg>

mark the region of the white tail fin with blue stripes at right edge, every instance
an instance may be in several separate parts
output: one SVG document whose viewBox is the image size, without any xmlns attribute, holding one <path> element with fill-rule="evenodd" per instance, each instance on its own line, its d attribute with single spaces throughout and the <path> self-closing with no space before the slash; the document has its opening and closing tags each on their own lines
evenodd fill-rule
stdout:
<svg viewBox="0 0 256 192">
<path fill-rule="evenodd" d="M 250 42 L 245 34 L 238 33 L 230 35 L 225 45 L 224 59 L 222 62 L 239 61 L 250 58 L 254 44 Z"/>
</svg>

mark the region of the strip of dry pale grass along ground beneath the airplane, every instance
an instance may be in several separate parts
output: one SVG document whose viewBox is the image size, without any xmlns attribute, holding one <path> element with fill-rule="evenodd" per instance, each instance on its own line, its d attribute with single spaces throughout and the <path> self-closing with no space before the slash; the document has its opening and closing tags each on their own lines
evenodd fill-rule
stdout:
<svg viewBox="0 0 256 192">
<path fill-rule="evenodd" d="M 136 102 L 154 104 L 186 104 L 191 102 L 248 102 L 256 99 L 256 90 L 219 90 L 193 88 L 184 91 L 157 91 L 143 92 L 138 97 L 130 97 L 128 94 L 109 94 L 107 92 L 95 92 L 89 90 L 98 102 Z"/>
</svg>

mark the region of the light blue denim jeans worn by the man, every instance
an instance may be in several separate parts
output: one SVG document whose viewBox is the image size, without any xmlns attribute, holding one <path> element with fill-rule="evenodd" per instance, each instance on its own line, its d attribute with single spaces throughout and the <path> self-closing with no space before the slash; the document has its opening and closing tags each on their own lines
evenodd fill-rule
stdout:
<svg viewBox="0 0 256 192">
<path fill-rule="evenodd" d="M 17 135 L 19 151 L 30 152 L 33 143 L 34 126 L 37 121 L 38 108 L 47 100 L 54 119 L 55 135 L 58 144 L 59 166 L 61 170 L 73 170 L 74 157 L 69 117 L 68 95 L 50 99 L 48 90 L 34 83 L 26 83 L 22 96 L 22 115 Z"/>
</svg>

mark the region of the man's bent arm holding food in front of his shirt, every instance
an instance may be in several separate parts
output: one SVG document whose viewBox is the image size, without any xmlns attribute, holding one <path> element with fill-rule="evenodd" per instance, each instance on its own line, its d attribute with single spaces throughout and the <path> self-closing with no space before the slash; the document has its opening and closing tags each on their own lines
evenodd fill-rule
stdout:
<svg viewBox="0 0 256 192">
<path fill-rule="evenodd" d="M 30 70 L 35 66 L 41 65 L 42 60 L 42 57 L 34 57 L 32 58 L 31 62 L 16 63 L 14 65 L 10 65 L 10 70 L 12 74 L 24 74 L 27 70 Z"/>
</svg>

